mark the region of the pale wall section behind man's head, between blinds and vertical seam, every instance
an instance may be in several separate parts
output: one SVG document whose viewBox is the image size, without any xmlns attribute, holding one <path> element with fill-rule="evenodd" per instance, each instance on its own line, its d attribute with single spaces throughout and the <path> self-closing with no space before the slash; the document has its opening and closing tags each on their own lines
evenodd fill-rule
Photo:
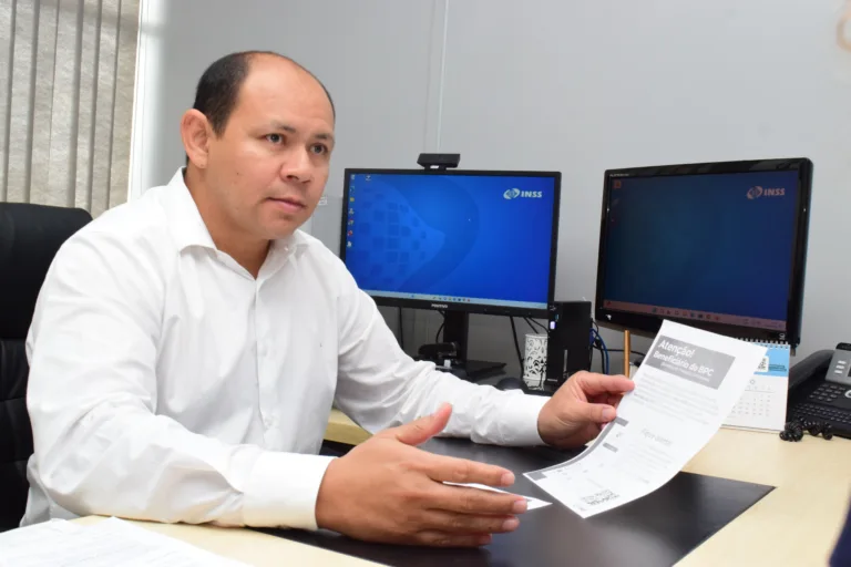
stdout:
<svg viewBox="0 0 851 567">
<path fill-rule="evenodd" d="M 346 166 L 416 163 L 430 135 L 433 11 L 431 2 L 393 0 L 144 0 L 134 195 L 183 165 L 178 124 L 195 85 L 209 63 L 240 50 L 287 54 L 332 93 L 329 192 L 341 195 Z"/>
</svg>

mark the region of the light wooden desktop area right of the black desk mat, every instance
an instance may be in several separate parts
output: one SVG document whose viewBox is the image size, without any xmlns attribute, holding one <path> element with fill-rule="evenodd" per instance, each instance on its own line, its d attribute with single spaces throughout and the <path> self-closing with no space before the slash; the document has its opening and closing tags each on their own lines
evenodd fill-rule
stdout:
<svg viewBox="0 0 851 567">
<path fill-rule="evenodd" d="M 685 471 L 776 488 L 678 566 L 827 565 L 851 502 L 851 441 L 722 429 Z"/>
</svg>

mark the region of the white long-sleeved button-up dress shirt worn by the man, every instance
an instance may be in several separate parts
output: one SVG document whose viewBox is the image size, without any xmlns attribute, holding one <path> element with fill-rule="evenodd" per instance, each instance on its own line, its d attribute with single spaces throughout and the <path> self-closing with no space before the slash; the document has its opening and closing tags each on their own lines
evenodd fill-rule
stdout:
<svg viewBox="0 0 851 567">
<path fill-rule="evenodd" d="M 71 237 L 27 341 L 23 525 L 101 514 L 316 528 L 336 403 L 370 432 L 451 402 L 448 435 L 541 444 L 545 399 L 416 362 L 321 243 L 257 278 L 216 249 L 177 172 Z"/>
</svg>

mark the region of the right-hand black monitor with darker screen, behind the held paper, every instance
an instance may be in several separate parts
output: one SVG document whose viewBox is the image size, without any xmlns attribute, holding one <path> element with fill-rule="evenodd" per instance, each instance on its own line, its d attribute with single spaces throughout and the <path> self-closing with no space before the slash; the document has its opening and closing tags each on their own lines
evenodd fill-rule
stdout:
<svg viewBox="0 0 851 567">
<path fill-rule="evenodd" d="M 811 177 L 806 158 L 606 172 L 595 318 L 797 346 Z"/>
</svg>

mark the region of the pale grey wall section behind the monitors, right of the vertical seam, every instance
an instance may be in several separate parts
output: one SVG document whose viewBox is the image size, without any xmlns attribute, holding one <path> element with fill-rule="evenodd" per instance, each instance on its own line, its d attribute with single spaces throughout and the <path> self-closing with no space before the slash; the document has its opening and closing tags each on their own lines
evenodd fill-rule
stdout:
<svg viewBox="0 0 851 567">
<path fill-rule="evenodd" d="M 851 334 L 851 53 L 841 2 L 450 2 L 441 150 L 563 172 L 556 298 L 593 297 L 609 167 L 809 156 L 799 357 Z M 761 246 L 770 246 L 766 235 Z M 613 334 L 608 342 L 619 338 Z M 642 346 L 646 346 L 643 343 Z"/>
</svg>

